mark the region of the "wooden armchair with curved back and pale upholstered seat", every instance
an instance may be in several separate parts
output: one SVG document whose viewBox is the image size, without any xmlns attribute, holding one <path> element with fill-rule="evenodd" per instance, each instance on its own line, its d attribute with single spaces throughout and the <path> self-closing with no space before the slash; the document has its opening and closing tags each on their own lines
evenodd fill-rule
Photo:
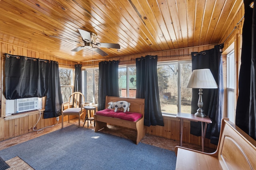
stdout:
<svg viewBox="0 0 256 170">
<path fill-rule="evenodd" d="M 68 99 L 68 102 L 65 102 L 61 105 L 61 120 L 62 120 L 62 128 L 63 128 L 63 117 L 68 115 L 68 122 L 70 115 L 78 115 L 78 127 L 80 127 L 80 117 L 83 115 L 84 121 L 84 95 L 80 92 L 74 92 Z M 64 107 L 66 109 L 64 109 Z"/>
</svg>

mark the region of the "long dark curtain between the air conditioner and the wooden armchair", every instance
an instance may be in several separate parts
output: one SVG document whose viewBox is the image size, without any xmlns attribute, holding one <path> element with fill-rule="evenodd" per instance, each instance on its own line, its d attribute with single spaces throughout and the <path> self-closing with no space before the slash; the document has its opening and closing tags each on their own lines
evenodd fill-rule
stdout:
<svg viewBox="0 0 256 170">
<path fill-rule="evenodd" d="M 58 62 L 50 61 L 49 87 L 46 97 L 44 119 L 61 115 L 62 94 Z"/>
</svg>

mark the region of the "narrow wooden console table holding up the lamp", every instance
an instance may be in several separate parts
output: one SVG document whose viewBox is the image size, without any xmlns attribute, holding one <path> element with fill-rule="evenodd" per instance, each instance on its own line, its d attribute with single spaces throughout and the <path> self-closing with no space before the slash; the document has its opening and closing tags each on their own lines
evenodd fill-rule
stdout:
<svg viewBox="0 0 256 170">
<path fill-rule="evenodd" d="M 212 123 L 209 117 L 197 117 L 190 113 L 178 113 L 177 118 L 180 119 L 180 146 L 182 147 L 182 131 L 183 131 L 183 119 L 190 121 L 200 121 L 202 123 L 202 152 L 204 152 L 204 137 L 206 134 L 206 128 L 208 123 Z M 204 126 L 205 123 L 205 126 Z"/>
</svg>

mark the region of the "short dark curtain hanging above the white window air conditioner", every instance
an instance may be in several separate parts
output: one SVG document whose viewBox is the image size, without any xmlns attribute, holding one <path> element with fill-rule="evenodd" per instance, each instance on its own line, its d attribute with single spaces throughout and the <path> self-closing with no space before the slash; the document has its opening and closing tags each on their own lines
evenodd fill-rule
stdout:
<svg viewBox="0 0 256 170">
<path fill-rule="evenodd" d="M 49 61 L 5 54 L 6 99 L 44 97 L 48 90 Z"/>
</svg>

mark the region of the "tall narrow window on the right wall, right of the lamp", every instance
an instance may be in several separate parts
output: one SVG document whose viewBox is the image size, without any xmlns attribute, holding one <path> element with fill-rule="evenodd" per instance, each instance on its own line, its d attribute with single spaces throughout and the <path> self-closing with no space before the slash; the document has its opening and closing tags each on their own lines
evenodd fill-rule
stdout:
<svg viewBox="0 0 256 170">
<path fill-rule="evenodd" d="M 227 55 L 227 96 L 228 96 L 228 118 L 230 121 L 235 123 L 235 58 L 234 51 L 228 53 Z"/>
</svg>

